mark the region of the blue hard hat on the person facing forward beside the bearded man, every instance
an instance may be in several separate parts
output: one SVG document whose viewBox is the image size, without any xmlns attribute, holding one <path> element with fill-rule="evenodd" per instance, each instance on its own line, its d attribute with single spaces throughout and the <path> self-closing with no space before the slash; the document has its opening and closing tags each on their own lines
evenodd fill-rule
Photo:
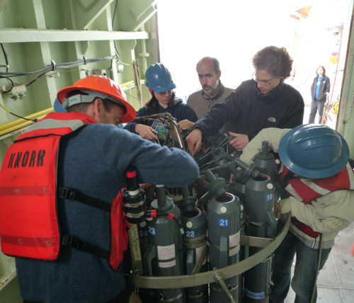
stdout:
<svg viewBox="0 0 354 303">
<path fill-rule="evenodd" d="M 154 63 L 147 68 L 145 85 L 156 93 L 164 93 L 164 91 L 172 91 L 176 88 L 169 69 L 161 63 Z"/>
</svg>

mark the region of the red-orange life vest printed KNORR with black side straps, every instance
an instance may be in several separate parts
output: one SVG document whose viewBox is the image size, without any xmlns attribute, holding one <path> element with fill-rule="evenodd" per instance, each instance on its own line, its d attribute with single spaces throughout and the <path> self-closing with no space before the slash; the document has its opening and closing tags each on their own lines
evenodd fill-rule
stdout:
<svg viewBox="0 0 354 303">
<path fill-rule="evenodd" d="M 0 241 L 8 256 L 56 260 L 61 245 L 107 258 L 113 269 L 127 249 L 122 194 L 107 203 L 57 186 L 59 142 L 96 120 L 81 113 L 50 113 L 31 125 L 6 151 L 0 171 Z M 57 200 L 68 198 L 110 212 L 110 251 L 61 235 Z"/>
</svg>

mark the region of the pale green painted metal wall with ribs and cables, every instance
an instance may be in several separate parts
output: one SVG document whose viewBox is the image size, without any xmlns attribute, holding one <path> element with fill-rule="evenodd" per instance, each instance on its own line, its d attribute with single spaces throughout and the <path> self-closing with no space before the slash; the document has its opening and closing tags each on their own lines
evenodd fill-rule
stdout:
<svg viewBox="0 0 354 303">
<path fill-rule="evenodd" d="M 32 115 L 51 108 L 59 89 L 71 86 L 84 76 L 105 73 L 118 84 L 132 82 L 129 88 L 123 89 L 127 100 L 139 109 L 143 101 L 137 99 L 133 62 L 139 63 L 143 81 L 146 67 L 159 61 L 155 13 L 154 1 L 150 0 L 1 1 L 0 43 L 6 55 L 0 47 L 0 72 L 28 74 L 1 74 L 0 104 L 16 115 Z M 120 55 L 119 60 L 102 59 L 116 54 Z M 84 57 L 100 60 L 57 68 L 45 74 L 41 70 L 53 69 L 54 64 L 57 67 L 57 64 L 84 61 Z M 35 79 L 41 74 L 40 79 Z M 13 96 L 18 84 L 25 86 L 23 98 Z M 11 86 L 16 87 L 10 91 Z M 149 92 L 145 87 L 142 93 L 142 98 L 147 100 Z M 20 134 L 6 133 L 8 122 L 18 120 L 6 110 L 0 108 L 0 164 L 6 149 Z M 17 279 L 6 282 L 15 273 L 14 264 L 11 261 L 12 265 L 8 266 L 8 257 L 1 252 L 0 257 L 0 302 L 22 302 Z"/>
</svg>

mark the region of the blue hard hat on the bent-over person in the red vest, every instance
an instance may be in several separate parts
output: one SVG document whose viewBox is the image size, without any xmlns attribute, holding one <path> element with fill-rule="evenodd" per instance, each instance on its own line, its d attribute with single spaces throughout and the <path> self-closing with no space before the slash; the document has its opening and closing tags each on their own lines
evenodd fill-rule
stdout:
<svg viewBox="0 0 354 303">
<path fill-rule="evenodd" d="M 349 160 L 346 140 L 326 125 L 299 125 L 280 140 L 279 156 L 290 171 L 305 178 L 327 178 Z"/>
</svg>

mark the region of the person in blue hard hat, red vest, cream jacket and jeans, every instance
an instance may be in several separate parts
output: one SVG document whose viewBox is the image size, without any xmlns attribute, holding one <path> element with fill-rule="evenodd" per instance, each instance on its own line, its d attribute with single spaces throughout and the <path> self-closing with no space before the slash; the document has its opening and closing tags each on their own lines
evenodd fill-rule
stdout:
<svg viewBox="0 0 354 303">
<path fill-rule="evenodd" d="M 324 267 L 338 232 L 354 220 L 354 173 L 348 144 L 326 125 L 267 128 L 246 145 L 240 159 L 250 164 L 263 141 L 279 153 L 282 163 L 279 176 L 284 193 L 274 210 L 278 232 L 284 227 L 283 215 L 292 216 L 289 232 L 275 250 L 270 302 L 284 302 L 290 282 L 295 302 L 316 302 L 317 268 Z"/>
</svg>

